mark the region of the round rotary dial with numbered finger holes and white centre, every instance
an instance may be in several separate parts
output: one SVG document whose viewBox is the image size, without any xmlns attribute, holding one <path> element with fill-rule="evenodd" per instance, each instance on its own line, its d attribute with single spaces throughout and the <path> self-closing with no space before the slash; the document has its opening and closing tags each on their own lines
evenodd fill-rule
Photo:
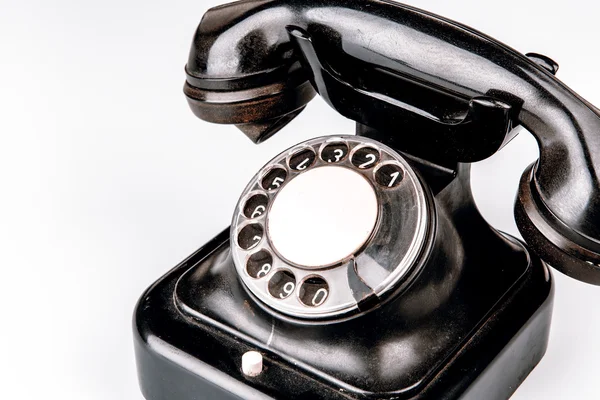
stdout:
<svg viewBox="0 0 600 400">
<path fill-rule="evenodd" d="M 429 205 L 410 165 L 357 136 L 312 139 L 252 179 L 231 241 L 245 286 L 298 318 L 364 311 L 420 260 Z"/>
</svg>

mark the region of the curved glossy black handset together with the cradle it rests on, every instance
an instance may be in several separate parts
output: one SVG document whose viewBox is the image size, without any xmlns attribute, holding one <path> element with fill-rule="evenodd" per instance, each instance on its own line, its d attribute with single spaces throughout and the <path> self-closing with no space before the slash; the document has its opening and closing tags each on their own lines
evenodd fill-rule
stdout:
<svg viewBox="0 0 600 400">
<path fill-rule="evenodd" d="M 368 136 L 439 163 L 491 156 L 523 125 L 540 159 L 516 216 L 553 267 L 600 284 L 600 113 L 547 57 L 389 1 L 240 1 L 210 11 L 194 39 L 194 112 L 264 140 L 314 88 Z"/>
</svg>

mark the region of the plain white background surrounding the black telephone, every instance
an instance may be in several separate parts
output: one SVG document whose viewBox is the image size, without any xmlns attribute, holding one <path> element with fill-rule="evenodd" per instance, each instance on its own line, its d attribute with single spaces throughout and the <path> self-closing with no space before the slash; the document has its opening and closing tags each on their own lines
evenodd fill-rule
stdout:
<svg viewBox="0 0 600 400">
<path fill-rule="evenodd" d="M 0 0 L 0 398 L 138 399 L 142 291 L 224 229 L 254 172 L 353 131 L 321 100 L 256 147 L 189 111 L 183 67 L 217 1 Z M 522 52 L 600 104 L 597 2 L 413 1 Z M 516 234 L 524 134 L 474 168 L 485 217 Z M 600 398 L 600 288 L 559 273 L 550 348 L 515 399 Z"/>
</svg>

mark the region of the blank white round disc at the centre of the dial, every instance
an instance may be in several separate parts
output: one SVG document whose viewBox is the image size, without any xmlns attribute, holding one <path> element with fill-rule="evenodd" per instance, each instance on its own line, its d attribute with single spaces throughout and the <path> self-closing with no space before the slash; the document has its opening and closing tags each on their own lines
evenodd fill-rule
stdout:
<svg viewBox="0 0 600 400">
<path fill-rule="evenodd" d="M 377 222 L 375 190 L 344 167 L 315 168 L 292 179 L 269 211 L 275 250 L 307 268 L 336 264 L 363 247 Z"/>
</svg>

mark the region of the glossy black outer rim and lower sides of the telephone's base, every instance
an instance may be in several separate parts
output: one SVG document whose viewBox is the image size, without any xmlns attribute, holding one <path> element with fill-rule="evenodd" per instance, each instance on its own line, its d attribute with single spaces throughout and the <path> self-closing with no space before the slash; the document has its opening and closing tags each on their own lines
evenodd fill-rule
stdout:
<svg viewBox="0 0 600 400">
<path fill-rule="evenodd" d="M 530 267 L 484 321 L 417 388 L 404 393 L 348 390 L 343 382 L 332 385 L 320 379 L 319 371 L 307 371 L 264 349 L 259 349 L 264 355 L 263 373 L 247 377 L 241 371 L 241 357 L 256 350 L 256 344 L 231 335 L 218 323 L 185 315 L 174 300 L 182 277 L 192 270 L 206 272 L 211 267 L 207 260 L 227 243 L 226 231 L 141 297 L 134 317 L 134 340 L 140 386 L 147 400 L 501 400 L 512 395 L 546 351 L 554 290 L 550 271 L 533 257 Z"/>
</svg>

